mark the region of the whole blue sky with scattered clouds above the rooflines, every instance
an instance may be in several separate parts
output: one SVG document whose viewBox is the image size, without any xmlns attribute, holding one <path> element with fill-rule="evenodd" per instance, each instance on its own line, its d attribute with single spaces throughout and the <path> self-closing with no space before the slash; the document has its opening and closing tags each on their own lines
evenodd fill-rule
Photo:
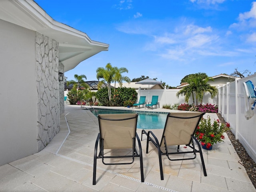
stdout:
<svg viewBox="0 0 256 192">
<path fill-rule="evenodd" d="M 96 79 L 107 63 L 178 86 L 188 74 L 256 72 L 256 2 L 251 0 L 35 0 L 54 20 L 110 44 L 65 72 Z"/>
</svg>

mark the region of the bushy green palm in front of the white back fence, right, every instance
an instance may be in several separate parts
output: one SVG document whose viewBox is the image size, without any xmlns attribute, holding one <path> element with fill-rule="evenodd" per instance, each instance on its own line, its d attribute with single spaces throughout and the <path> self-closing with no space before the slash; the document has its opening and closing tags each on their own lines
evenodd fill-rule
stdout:
<svg viewBox="0 0 256 192">
<path fill-rule="evenodd" d="M 211 94 L 211 98 L 214 98 L 218 94 L 218 89 L 214 86 L 208 84 L 208 81 L 213 81 L 213 78 L 206 77 L 202 79 L 202 77 L 195 77 L 188 79 L 188 85 L 182 88 L 179 92 L 177 92 L 176 96 L 179 98 L 180 95 L 185 97 L 185 102 L 188 103 L 188 100 L 192 94 L 193 104 L 195 105 L 196 96 L 196 106 L 198 106 L 198 102 L 202 104 L 203 96 L 205 92 L 209 92 Z"/>
</svg>

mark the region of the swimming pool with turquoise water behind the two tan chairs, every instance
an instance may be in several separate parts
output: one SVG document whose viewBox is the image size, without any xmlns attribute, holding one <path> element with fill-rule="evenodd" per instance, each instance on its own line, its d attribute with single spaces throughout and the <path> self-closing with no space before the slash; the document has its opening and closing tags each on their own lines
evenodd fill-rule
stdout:
<svg viewBox="0 0 256 192">
<path fill-rule="evenodd" d="M 98 114 L 119 114 L 119 113 L 138 113 L 137 128 L 139 129 L 163 129 L 167 113 L 164 112 L 138 112 L 129 110 L 109 110 L 109 109 L 90 109 L 95 115 Z"/>
</svg>

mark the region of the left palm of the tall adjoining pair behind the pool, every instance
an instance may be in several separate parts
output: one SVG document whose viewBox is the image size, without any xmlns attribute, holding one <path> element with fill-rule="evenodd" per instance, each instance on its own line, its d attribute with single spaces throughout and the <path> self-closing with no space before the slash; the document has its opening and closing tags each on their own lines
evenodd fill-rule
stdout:
<svg viewBox="0 0 256 192">
<path fill-rule="evenodd" d="M 114 68 L 110 63 L 108 63 L 105 68 L 98 67 L 96 72 L 97 72 L 97 75 L 96 75 L 97 79 L 98 80 L 100 80 L 101 78 L 103 79 L 98 84 L 98 87 L 100 87 L 102 83 L 105 81 L 107 83 L 107 88 L 108 88 L 108 99 L 111 100 L 110 83 L 113 81 L 113 76 L 115 74 Z"/>
</svg>

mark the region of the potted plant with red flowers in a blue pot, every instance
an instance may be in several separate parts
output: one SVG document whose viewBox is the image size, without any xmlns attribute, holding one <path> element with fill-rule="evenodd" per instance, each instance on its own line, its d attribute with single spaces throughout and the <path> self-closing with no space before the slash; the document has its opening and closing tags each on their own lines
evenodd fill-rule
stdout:
<svg viewBox="0 0 256 192">
<path fill-rule="evenodd" d="M 220 123 L 220 120 L 214 120 L 211 122 L 210 116 L 207 116 L 207 119 L 202 118 L 197 130 L 196 130 L 196 138 L 202 144 L 202 148 L 211 150 L 212 145 L 217 142 L 222 142 L 225 139 L 223 135 L 224 132 L 229 130 L 230 124 Z"/>
</svg>

